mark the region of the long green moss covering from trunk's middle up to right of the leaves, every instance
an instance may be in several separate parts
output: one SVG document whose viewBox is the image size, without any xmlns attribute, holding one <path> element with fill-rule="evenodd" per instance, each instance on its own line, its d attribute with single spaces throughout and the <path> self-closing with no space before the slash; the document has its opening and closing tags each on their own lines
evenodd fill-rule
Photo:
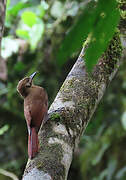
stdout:
<svg viewBox="0 0 126 180">
<path fill-rule="evenodd" d="M 121 54 L 120 33 L 116 32 L 108 49 L 94 68 L 92 77 L 71 77 L 63 84 L 60 90 L 62 101 L 72 102 L 73 107 L 65 108 L 61 116 L 68 129 L 71 129 L 76 135 L 80 135 L 83 124 L 90 119 L 92 109 L 98 100 L 101 82 L 109 84 L 110 76 L 117 68 Z M 82 122 L 80 123 L 80 121 Z"/>
</svg>

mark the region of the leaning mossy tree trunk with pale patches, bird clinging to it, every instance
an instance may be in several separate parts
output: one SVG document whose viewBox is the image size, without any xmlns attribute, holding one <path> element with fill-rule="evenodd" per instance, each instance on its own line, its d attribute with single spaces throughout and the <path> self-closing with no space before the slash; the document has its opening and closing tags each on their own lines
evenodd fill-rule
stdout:
<svg viewBox="0 0 126 180">
<path fill-rule="evenodd" d="M 121 23 L 124 20 L 122 18 Z M 124 35 L 125 23 L 121 23 L 119 28 Z M 125 59 L 126 39 L 119 32 L 115 33 L 90 76 L 86 72 L 82 49 L 49 109 L 49 119 L 39 132 L 40 151 L 33 160 L 28 160 L 23 180 L 67 179 L 80 137 Z"/>
</svg>

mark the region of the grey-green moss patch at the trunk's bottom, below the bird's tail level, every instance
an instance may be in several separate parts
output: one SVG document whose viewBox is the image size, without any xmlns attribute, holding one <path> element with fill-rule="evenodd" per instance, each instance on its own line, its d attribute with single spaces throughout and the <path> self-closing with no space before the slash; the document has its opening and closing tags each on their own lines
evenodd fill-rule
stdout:
<svg viewBox="0 0 126 180">
<path fill-rule="evenodd" d="M 64 179 L 65 167 L 61 163 L 63 149 L 61 144 L 47 145 L 40 152 L 41 156 L 37 161 L 36 167 L 53 177 L 54 180 Z M 60 177 L 60 178 L 59 178 Z"/>
</svg>

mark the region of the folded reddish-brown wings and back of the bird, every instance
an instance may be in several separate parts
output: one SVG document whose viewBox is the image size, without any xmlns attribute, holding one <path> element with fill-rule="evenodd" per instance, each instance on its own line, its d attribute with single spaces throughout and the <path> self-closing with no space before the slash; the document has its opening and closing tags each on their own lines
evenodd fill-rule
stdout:
<svg viewBox="0 0 126 180">
<path fill-rule="evenodd" d="M 41 89 L 40 89 L 41 90 Z M 24 115 L 27 125 L 36 127 L 38 131 L 41 124 L 47 119 L 48 96 L 45 91 L 39 91 L 37 96 L 24 100 Z"/>
</svg>

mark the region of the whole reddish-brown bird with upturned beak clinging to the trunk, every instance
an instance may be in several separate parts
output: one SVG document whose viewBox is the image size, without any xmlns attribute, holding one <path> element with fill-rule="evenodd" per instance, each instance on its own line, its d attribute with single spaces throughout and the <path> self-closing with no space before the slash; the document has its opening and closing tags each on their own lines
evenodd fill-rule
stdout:
<svg viewBox="0 0 126 180">
<path fill-rule="evenodd" d="M 48 119 L 48 95 L 44 88 L 33 84 L 31 76 L 25 77 L 17 85 L 18 93 L 24 98 L 24 116 L 28 128 L 28 156 L 33 159 L 39 151 L 38 132 Z"/>
</svg>

